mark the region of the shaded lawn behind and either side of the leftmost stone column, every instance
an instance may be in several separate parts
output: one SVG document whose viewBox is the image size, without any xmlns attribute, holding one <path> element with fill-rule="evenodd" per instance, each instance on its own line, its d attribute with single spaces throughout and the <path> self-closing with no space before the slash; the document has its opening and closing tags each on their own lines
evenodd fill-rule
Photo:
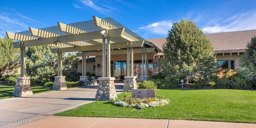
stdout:
<svg viewBox="0 0 256 128">
<path fill-rule="evenodd" d="M 17 96 L 12 95 L 14 87 L 15 87 L 15 84 L 8 84 L 8 83 L 1 84 L 0 85 L 0 99 L 17 97 Z M 52 91 L 52 90 L 50 90 L 50 88 L 44 88 L 44 87 L 38 86 L 38 85 L 31 85 L 31 88 L 32 88 L 33 94 Z"/>
</svg>

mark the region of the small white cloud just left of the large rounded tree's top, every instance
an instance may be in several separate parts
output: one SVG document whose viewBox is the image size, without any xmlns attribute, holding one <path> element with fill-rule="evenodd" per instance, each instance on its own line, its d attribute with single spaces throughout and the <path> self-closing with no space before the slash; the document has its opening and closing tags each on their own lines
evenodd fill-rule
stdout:
<svg viewBox="0 0 256 128">
<path fill-rule="evenodd" d="M 140 30 L 147 30 L 151 33 L 158 35 L 167 35 L 168 31 L 172 28 L 172 22 L 170 20 L 159 21 L 148 26 L 140 27 Z"/>
</svg>

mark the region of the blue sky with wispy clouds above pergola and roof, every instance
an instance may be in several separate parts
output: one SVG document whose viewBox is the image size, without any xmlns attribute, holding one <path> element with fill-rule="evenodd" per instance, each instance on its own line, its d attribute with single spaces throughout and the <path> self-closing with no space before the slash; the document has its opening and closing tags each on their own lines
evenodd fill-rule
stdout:
<svg viewBox="0 0 256 128">
<path fill-rule="evenodd" d="M 183 18 L 204 33 L 255 30 L 256 0 L 0 0 L 0 37 L 92 16 L 111 17 L 144 39 L 166 37 Z"/>
</svg>

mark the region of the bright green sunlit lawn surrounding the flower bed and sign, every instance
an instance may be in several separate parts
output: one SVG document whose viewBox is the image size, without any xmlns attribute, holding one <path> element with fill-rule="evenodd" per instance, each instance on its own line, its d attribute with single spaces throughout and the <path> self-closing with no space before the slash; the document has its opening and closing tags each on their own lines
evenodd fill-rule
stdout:
<svg viewBox="0 0 256 128">
<path fill-rule="evenodd" d="M 169 104 L 136 110 L 115 106 L 108 101 L 96 101 L 54 115 L 256 123 L 256 91 L 156 90 L 156 95 L 169 98 Z"/>
</svg>

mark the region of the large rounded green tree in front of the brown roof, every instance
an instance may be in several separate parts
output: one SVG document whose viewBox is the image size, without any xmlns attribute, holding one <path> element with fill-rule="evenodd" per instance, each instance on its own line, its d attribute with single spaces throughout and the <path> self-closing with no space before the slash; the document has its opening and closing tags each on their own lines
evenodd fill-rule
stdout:
<svg viewBox="0 0 256 128">
<path fill-rule="evenodd" d="M 207 83 L 216 72 L 216 57 L 210 40 L 192 21 L 175 22 L 163 45 L 162 63 L 167 77 Z"/>
</svg>

